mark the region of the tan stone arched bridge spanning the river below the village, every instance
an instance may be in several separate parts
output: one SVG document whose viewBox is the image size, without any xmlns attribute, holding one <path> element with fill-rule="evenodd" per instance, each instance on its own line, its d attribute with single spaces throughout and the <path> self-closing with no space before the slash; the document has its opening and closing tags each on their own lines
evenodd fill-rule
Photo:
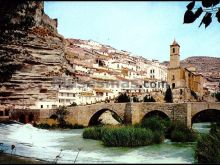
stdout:
<svg viewBox="0 0 220 165">
<path fill-rule="evenodd" d="M 86 106 L 74 106 L 68 107 L 70 114 L 67 117 L 67 121 L 72 124 L 80 124 L 84 126 L 91 125 L 92 120 L 98 119 L 98 117 L 110 110 L 117 114 L 126 124 L 139 123 L 145 115 L 151 112 L 160 112 L 172 121 L 180 120 L 191 127 L 192 119 L 197 114 L 206 110 L 219 110 L 220 103 L 218 102 L 191 102 L 191 103 L 155 103 L 155 102 L 142 102 L 142 103 L 98 103 Z M 41 119 L 50 118 L 54 113 L 54 110 L 27 110 L 19 112 L 20 114 L 33 114 L 33 119 L 39 121 Z M 18 113 L 16 113 L 18 116 Z M 27 120 L 27 119 L 26 119 Z"/>
</svg>

